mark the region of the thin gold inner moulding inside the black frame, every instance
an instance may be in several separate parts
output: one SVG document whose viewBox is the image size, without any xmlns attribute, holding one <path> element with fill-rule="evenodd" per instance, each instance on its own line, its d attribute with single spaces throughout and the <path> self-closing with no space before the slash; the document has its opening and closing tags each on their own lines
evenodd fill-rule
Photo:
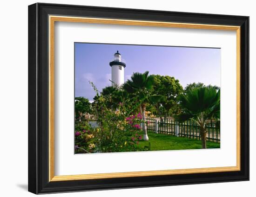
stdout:
<svg viewBox="0 0 256 197">
<path fill-rule="evenodd" d="M 99 178 L 124 178 L 124 177 L 144 177 L 157 175 L 208 173 L 208 172 L 231 172 L 240 171 L 240 26 L 229 25 L 206 25 L 191 23 L 172 23 L 143 20 L 124 20 L 124 19 L 99 19 L 49 15 L 49 181 L 70 181 Z M 54 175 L 54 22 L 79 22 L 79 23 L 97 23 L 97 24 L 116 24 L 116 25 L 141 25 L 141 26 L 159 26 L 190 29 L 210 29 L 210 30 L 230 30 L 236 31 L 236 166 L 230 167 L 212 167 L 195 169 L 177 169 L 160 171 L 142 171 L 142 172 L 118 172 L 118 173 L 100 173 L 100 174 L 82 174 L 82 175 Z"/>
</svg>

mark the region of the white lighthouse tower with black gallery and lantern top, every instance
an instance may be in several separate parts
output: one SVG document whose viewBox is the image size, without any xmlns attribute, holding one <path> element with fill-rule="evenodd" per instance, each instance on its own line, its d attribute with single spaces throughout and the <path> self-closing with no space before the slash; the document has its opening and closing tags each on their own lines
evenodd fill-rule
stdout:
<svg viewBox="0 0 256 197">
<path fill-rule="evenodd" d="M 120 87 L 124 83 L 125 61 L 121 58 L 121 54 L 116 51 L 114 59 L 109 62 L 111 66 L 111 81 L 113 87 Z"/>
</svg>

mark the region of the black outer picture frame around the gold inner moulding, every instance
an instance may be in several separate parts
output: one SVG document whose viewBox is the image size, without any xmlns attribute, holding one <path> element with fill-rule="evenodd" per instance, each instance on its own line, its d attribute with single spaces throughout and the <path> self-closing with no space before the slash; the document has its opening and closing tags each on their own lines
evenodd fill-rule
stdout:
<svg viewBox="0 0 256 197">
<path fill-rule="evenodd" d="M 49 182 L 48 16 L 241 27 L 241 170 Z M 28 191 L 35 194 L 249 180 L 249 17 L 35 3 L 28 6 Z"/>
</svg>

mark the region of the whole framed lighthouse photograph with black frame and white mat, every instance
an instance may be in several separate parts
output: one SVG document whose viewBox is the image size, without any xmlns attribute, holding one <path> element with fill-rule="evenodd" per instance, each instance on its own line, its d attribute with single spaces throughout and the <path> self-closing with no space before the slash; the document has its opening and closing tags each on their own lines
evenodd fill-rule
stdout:
<svg viewBox="0 0 256 197">
<path fill-rule="evenodd" d="M 249 17 L 28 6 L 28 191 L 249 180 Z"/>
</svg>

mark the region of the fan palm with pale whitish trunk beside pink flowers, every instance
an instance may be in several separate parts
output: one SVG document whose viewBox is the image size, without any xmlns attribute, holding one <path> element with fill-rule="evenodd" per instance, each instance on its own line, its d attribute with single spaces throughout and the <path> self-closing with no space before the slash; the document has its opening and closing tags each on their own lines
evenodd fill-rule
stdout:
<svg viewBox="0 0 256 197">
<path fill-rule="evenodd" d="M 148 102 L 149 97 L 151 96 L 151 90 L 154 85 L 154 76 L 148 75 L 148 71 L 144 73 L 135 72 L 131 76 L 131 79 L 128 79 L 126 83 L 122 85 L 122 88 L 126 90 L 128 93 L 133 94 L 138 98 L 141 102 L 141 110 L 142 110 L 142 128 L 144 131 L 143 140 L 148 141 L 148 133 L 146 122 L 146 104 Z"/>
</svg>

